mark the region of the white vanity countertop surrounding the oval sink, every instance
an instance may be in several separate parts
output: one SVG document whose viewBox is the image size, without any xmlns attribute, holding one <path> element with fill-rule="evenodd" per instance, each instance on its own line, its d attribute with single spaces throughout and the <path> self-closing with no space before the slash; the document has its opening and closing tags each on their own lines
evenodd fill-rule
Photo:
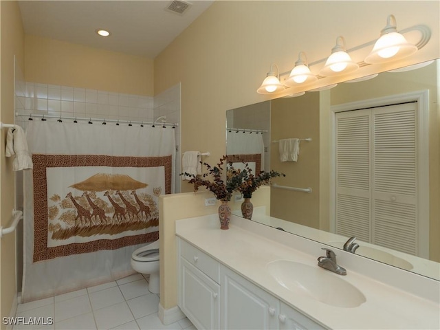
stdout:
<svg viewBox="0 0 440 330">
<path fill-rule="evenodd" d="M 212 214 L 176 221 L 176 234 L 330 329 L 440 329 L 439 281 L 336 251 L 338 264 L 347 269 L 347 276 L 329 273 L 357 287 L 366 302 L 353 308 L 334 307 L 285 289 L 267 271 L 267 264 L 276 260 L 318 267 L 318 256 L 325 255 L 321 243 L 234 215 L 229 230 L 220 230 L 218 215 Z M 368 269 L 363 272 L 362 267 Z M 387 281 L 365 275 L 377 272 L 388 276 Z M 411 293 L 402 289 L 405 283 Z"/>
</svg>

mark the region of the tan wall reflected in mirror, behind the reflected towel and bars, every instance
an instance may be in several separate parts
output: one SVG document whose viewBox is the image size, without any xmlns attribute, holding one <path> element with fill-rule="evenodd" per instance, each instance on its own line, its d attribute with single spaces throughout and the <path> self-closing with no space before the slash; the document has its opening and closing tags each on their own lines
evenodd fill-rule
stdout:
<svg viewBox="0 0 440 330">
<path fill-rule="evenodd" d="M 272 188 L 271 215 L 320 229 L 320 93 L 271 102 L 271 140 L 294 137 L 312 141 L 300 142 L 298 162 L 280 162 L 278 144 L 272 146 L 271 169 L 286 175 L 274 181 L 281 186 L 310 187 L 313 193 Z"/>
</svg>

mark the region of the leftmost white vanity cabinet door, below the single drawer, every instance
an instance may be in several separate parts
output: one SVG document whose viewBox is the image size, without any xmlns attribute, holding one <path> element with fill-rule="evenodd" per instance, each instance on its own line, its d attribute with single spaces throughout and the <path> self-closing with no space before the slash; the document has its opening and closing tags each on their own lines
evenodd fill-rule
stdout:
<svg viewBox="0 0 440 330">
<path fill-rule="evenodd" d="M 220 329 L 220 286 L 180 258 L 179 307 L 197 329 Z"/>
</svg>

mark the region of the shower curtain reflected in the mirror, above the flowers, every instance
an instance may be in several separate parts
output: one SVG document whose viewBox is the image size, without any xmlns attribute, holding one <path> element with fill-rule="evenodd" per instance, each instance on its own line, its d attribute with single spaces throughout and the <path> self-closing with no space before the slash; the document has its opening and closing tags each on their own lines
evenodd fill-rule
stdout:
<svg viewBox="0 0 440 330">
<path fill-rule="evenodd" d="M 243 162 L 248 163 L 254 174 L 264 168 L 263 135 L 228 131 L 226 141 L 226 155 L 234 168 L 243 169 Z"/>
</svg>

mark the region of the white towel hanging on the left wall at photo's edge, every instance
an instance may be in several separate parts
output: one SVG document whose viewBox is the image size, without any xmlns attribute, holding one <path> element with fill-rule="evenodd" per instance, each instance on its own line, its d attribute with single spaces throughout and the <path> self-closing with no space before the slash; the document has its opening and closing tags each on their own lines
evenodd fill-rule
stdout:
<svg viewBox="0 0 440 330">
<path fill-rule="evenodd" d="M 26 142 L 25 132 L 18 125 L 14 125 L 13 129 L 8 129 L 8 135 L 6 135 L 5 156 L 11 157 L 14 155 L 12 170 L 28 170 L 34 168 L 32 157 L 28 149 L 28 142 Z"/>
</svg>

